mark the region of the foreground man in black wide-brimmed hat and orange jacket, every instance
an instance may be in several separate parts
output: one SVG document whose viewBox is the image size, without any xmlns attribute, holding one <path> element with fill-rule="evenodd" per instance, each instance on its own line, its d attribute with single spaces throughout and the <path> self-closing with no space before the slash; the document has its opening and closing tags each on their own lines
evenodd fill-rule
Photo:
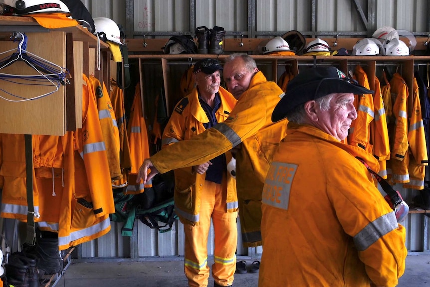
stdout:
<svg viewBox="0 0 430 287">
<path fill-rule="evenodd" d="M 357 117 L 354 94 L 370 93 L 335 67 L 288 84 L 272 114 L 289 123 L 262 195 L 259 286 L 397 285 L 405 228 L 367 168 L 378 172 L 377 159 L 342 143 Z"/>
</svg>

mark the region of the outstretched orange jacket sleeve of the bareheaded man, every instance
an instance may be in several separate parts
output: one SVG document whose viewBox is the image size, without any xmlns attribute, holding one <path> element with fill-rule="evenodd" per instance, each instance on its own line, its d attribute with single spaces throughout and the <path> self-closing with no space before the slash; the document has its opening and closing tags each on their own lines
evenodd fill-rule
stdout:
<svg viewBox="0 0 430 287">
<path fill-rule="evenodd" d="M 190 140 L 166 147 L 151 157 L 159 172 L 202 164 L 256 134 L 266 121 L 266 97 L 272 91 L 251 88 L 241 96 L 230 117 Z M 180 157 L 178 156 L 180 155 Z"/>
</svg>

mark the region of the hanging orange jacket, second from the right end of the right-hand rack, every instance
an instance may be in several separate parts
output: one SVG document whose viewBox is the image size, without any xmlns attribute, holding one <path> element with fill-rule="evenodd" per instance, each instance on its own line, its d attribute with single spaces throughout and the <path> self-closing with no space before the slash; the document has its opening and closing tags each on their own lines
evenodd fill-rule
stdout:
<svg viewBox="0 0 430 287">
<path fill-rule="evenodd" d="M 409 182 L 408 164 L 408 87 L 399 73 L 390 81 L 395 122 L 389 125 L 391 159 L 387 163 L 387 176 L 392 183 Z"/>
</svg>

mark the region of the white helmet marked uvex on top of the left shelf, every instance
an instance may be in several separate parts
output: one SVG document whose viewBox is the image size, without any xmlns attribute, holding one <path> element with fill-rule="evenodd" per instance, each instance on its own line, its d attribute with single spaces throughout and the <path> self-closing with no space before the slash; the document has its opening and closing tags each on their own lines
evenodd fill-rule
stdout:
<svg viewBox="0 0 430 287">
<path fill-rule="evenodd" d="M 11 6 L 16 15 L 37 13 L 67 13 L 69 8 L 59 0 L 3 0 L 4 4 Z"/>
</svg>

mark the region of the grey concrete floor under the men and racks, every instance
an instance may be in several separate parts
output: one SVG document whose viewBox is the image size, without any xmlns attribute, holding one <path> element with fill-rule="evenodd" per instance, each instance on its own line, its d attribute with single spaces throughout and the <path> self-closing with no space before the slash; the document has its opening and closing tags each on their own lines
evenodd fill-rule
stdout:
<svg viewBox="0 0 430 287">
<path fill-rule="evenodd" d="M 253 259 L 246 259 L 248 268 Z M 212 262 L 209 262 L 212 264 Z M 213 286 L 209 279 L 209 287 Z M 183 261 L 72 263 L 56 287 L 187 287 Z M 235 274 L 234 286 L 257 287 L 258 273 Z M 430 286 L 430 255 L 409 255 L 398 287 Z"/>
</svg>

